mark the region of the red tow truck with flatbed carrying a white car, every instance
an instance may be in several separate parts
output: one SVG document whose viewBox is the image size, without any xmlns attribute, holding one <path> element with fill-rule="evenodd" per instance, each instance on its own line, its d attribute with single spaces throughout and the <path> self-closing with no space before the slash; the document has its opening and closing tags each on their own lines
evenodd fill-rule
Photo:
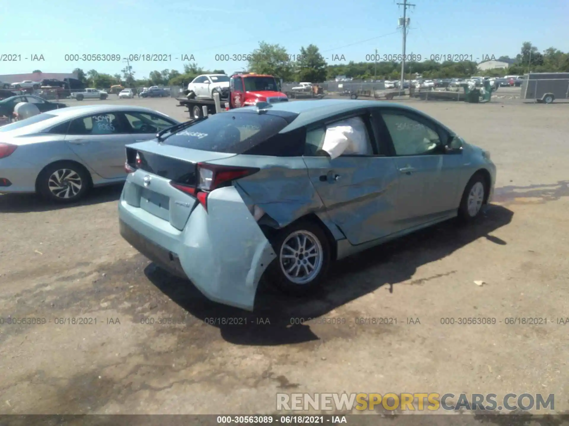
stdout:
<svg viewBox="0 0 569 426">
<path fill-rule="evenodd" d="M 286 102 L 288 97 L 282 93 L 277 79 L 267 74 L 238 73 L 233 74 L 229 80 L 229 91 L 222 93 L 220 99 L 221 109 L 229 110 L 242 106 L 255 105 L 257 102 Z M 188 108 L 192 118 L 203 116 L 203 107 L 206 106 L 208 114 L 217 112 L 213 99 L 176 98 L 178 106 Z"/>
</svg>

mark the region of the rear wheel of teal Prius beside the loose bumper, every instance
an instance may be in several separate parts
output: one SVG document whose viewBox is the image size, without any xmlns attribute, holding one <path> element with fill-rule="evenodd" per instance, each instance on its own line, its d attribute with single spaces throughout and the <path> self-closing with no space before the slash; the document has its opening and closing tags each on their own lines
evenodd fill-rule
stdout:
<svg viewBox="0 0 569 426">
<path fill-rule="evenodd" d="M 271 245 L 277 258 L 267 268 L 267 278 L 278 290 L 306 296 L 321 287 L 331 263 L 331 249 L 319 225 L 299 220 L 277 232 Z"/>
</svg>

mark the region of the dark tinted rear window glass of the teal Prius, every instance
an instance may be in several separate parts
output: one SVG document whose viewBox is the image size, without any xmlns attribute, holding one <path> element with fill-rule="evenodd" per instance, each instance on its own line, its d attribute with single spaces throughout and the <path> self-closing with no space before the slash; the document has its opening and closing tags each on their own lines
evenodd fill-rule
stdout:
<svg viewBox="0 0 569 426">
<path fill-rule="evenodd" d="M 271 114 L 220 112 L 174 133 L 164 144 L 242 154 L 276 135 L 287 124 L 284 118 Z"/>
</svg>

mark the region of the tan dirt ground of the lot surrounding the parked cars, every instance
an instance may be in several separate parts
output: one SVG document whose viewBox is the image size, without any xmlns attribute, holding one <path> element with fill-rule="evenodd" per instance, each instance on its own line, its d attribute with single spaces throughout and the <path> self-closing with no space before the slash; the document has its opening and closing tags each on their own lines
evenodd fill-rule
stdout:
<svg viewBox="0 0 569 426">
<path fill-rule="evenodd" d="M 170 98 L 105 102 L 187 118 Z M 0 195 L 0 414 L 265 414 L 277 392 L 344 391 L 542 392 L 567 410 L 568 105 L 409 105 L 492 153 L 483 220 L 341 261 L 309 300 L 262 289 L 253 313 L 209 302 L 123 241 L 121 187 L 64 208 Z M 496 321 L 442 324 L 471 317 Z"/>
</svg>

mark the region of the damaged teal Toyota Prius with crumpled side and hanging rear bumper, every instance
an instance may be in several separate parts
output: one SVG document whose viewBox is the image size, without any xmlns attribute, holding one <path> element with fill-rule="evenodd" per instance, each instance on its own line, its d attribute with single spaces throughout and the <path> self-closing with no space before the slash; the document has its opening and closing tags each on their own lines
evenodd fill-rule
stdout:
<svg viewBox="0 0 569 426">
<path fill-rule="evenodd" d="M 261 275 L 318 288 L 332 261 L 492 198 L 490 154 L 413 108 L 323 99 L 220 112 L 127 145 L 120 232 L 209 299 L 253 310 Z"/>
</svg>

